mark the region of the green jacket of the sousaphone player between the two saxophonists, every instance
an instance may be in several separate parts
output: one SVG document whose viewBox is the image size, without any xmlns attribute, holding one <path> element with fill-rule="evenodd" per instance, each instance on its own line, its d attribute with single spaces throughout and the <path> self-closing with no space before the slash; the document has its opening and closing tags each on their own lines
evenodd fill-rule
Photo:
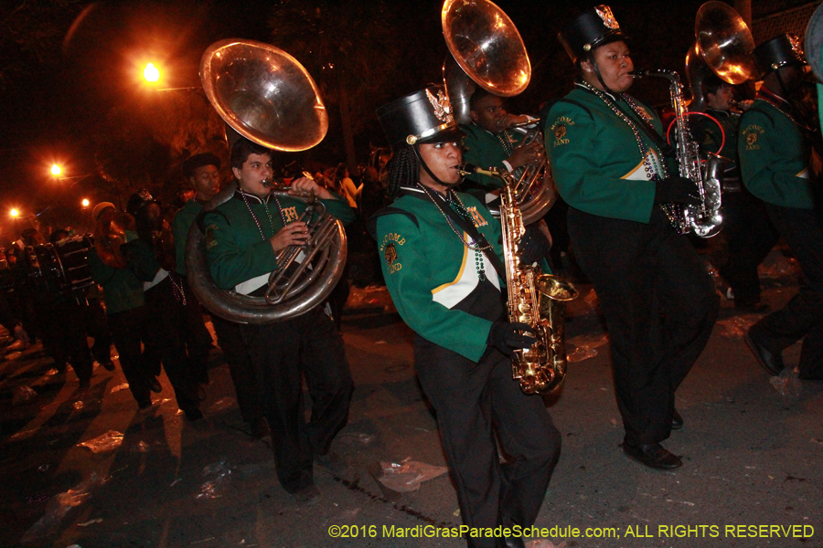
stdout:
<svg viewBox="0 0 823 548">
<path fill-rule="evenodd" d="M 477 167 L 507 169 L 503 161 L 523 140 L 523 135 L 518 132 L 491 133 L 474 123 L 461 125 L 460 129 L 465 132 L 463 161 Z M 496 190 L 503 186 L 502 181 L 488 175 L 471 174 L 466 179 L 484 190 Z"/>
</svg>

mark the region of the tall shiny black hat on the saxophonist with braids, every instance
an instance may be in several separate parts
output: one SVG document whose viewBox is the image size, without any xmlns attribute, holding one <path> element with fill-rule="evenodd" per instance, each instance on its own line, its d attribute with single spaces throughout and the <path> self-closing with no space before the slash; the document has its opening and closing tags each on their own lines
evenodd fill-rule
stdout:
<svg viewBox="0 0 823 548">
<path fill-rule="evenodd" d="M 459 141 L 465 135 L 454 121 L 443 86 L 429 86 L 392 100 L 380 107 L 377 115 L 395 150 L 413 144 Z"/>
</svg>

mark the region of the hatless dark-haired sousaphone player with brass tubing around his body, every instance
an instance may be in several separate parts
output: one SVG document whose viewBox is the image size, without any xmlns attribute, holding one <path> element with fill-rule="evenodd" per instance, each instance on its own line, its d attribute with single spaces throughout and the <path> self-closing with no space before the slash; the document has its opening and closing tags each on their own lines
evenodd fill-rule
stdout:
<svg viewBox="0 0 823 548">
<path fill-rule="evenodd" d="M 305 203 L 272 194 L 271 150 L 240 138 L 231 147 L 230 160 L 238 189 L 205 216 L 208 268 L 220 289 L 262 296 L 269 274 L 278 269 L 277 252 L 310 237 L 305 222 L 297 220 Z M 313 193 L 345 224 L 355 218 L 345 201 L 312 179 L 294 179 L 290 193 Z M 320 492 L 313 461 L 337 475 L 347 470 L 329 451 L 346 426 L 354 390 L 343 339 L 325 306 L 285 321 L 241 324 L 240 333 L 252 363 L 262 371 L 262 405 L 272 431 L 277 477 L 296 501 L 314 503 Z M 304 377 L 313 405 L 308 424 Z"/>
</svg>

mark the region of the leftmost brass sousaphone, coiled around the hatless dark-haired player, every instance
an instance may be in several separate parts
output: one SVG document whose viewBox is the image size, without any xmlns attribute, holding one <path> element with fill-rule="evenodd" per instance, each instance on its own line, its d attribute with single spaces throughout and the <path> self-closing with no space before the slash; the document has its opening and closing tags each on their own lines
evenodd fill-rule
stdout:
<svg viewBox="0 0 823 548">
<path fill-rule="evenodd" d="M 223 121 L 252 142 L 292 153 L 310 149 L 326 136 L 328 115 L 315 81 L 282 49 L 251 40 L 216 42 L 203 54 L 200 79 Z M 228 201 L 235 190 L 230 184 L 205 209 Z M 286 190 L 275 194 L 284 196 Z M 265 297 L 220 290 L 208 271 L 206 238 L 197 223 L 191 227 L 186 244 L 188 282 L 209 311 L 238 323 L 272 323 L 311 311 L 334 290 L 346 264 L 346 233 L 319 200 L 298 199 L 307 204 L 308 213 L 301 220 L 308 224 L 311 238 L 278 256 L 280 268 L 270 275 Z"/>
</svg>

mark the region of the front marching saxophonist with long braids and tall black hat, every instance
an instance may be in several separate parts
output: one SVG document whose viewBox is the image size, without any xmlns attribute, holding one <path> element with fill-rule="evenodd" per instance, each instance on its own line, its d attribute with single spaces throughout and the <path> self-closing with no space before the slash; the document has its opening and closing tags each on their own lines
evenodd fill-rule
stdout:
<svg viewBox="0 0 823 548">
<path fill-rule="evenodd" d="M 499 222 L 476 198 L 454 191 L 462 179 L 463 132 L 450 109 L 443 89 L 431 87 L 378 110 L 394 149 L 388 164 L 394 202 L 376 214 L 383 276 L 417 333 L 417 374 L 437 414 L 463 521 L 525 527 L 540 511 L 561 437 L 542 399 L 524 395 L 512 379 L 507 354 L 533 339 L 519 332 L 528 325 L 503 319 L 506 278 L 493 262 L 502 269 Z M 494 430 L 509 457 L 505 464 Z M 466 540 L 478 547 L 501 542 Z M 523 546 L 522 538 L 502 541 Z"/>
</svg>

